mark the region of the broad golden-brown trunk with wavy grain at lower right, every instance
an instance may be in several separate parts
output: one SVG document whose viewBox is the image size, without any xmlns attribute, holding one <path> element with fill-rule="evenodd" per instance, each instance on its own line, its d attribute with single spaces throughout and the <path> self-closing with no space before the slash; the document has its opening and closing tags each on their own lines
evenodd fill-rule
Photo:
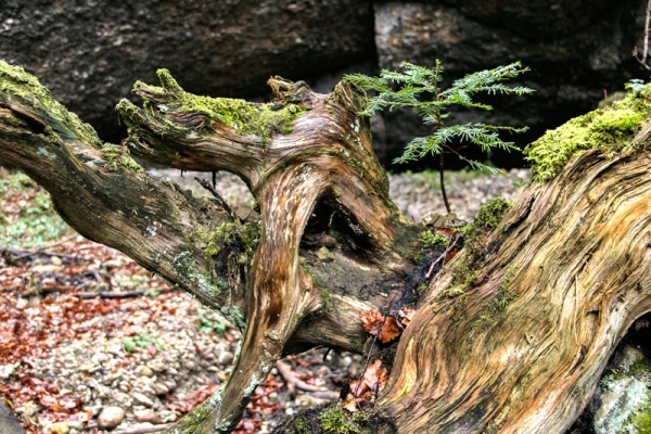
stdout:
<svg viewBox="0 0 651 434">
<path fill-rule="evenodd" d="M 636 142 L 649 143 L 647 128 Z M 651 309 L 651 158 L 584 153 L 532 184 L 449 293 L 459 255 L 400 340 L 380 400 L 400 432 L 562 433 L 631 322 Z M 510 303 L 498 306 L 500 297 Z"/>
</svg>

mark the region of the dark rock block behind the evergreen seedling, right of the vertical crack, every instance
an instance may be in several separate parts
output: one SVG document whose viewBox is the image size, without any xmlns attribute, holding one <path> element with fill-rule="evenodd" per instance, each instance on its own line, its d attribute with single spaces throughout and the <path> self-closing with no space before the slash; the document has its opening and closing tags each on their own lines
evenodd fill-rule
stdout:
<svg viewBox="0 0 651 434">
<path fill-rule="evenodd" d="M 432 66 L 441 59 L 445 86 L 471 72 L 522 61 L 532 71 L 520 84 L 537 89 L 535 94 L 492 98 L 494 112 L 458 112 L 448 122 L 528 125 L 531 132 L 513 137 L 524 145 L 596 108 L 604 90 L 612 93 L 630 78 L 648 78 L 630 54 L 634 46 L 642 46 L 646 5 L 646 0 L 379 2 L 379 63 L 396 69 L 403 60 Z M 393 112 L 383 118 L 391 125 L 387 156 L 429 132 L 412 115 Z"/>
</svg>

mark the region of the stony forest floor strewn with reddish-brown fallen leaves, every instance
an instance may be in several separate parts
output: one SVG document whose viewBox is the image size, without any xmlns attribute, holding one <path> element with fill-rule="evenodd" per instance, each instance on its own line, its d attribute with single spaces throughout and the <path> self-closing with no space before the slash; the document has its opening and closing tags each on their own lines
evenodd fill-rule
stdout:
<svg viewBox="0 0 651 434">
<path fill-rule="evenodd" d="M 151 173 L 206 194 L 197 174 Z M 511 176 L 525 181 L 527 171 Z M 445 214 L 437 177 L 392 175 L 392 197 L 417 221 Z M 446 186 L 461 220 L 519 191 L 505 177 L 473 173 L 448 174 Z M 253 205 L 231 175 L 218 175 L 217 190 L 232 204 Z M 241 339 L 159 277 L 76 234 L 44 190 L 1 167 L 0 306 L 0 397 L 28 433 L 162 430 L 219 387 Z M 273 416 L 329 403 L 363 362 L 326 348 L 286 357 L 255 391 L 237 432 L 264 433 Z"/>
</svg>

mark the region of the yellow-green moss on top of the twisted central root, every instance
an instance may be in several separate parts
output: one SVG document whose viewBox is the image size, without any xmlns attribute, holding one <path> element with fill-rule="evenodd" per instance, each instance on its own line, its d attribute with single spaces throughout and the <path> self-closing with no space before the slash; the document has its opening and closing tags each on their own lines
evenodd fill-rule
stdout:
<svg viewBox="0 0 651 434">
<path fill-rule="evenodd" d="M 182 110 L 203 113 L 214 120 L 219 120 L 242 136 L 255 135 L 265 144 L 277 133 L 292 132 L 293 120 L 307 108 L 299 104 L 258 104 L 230 98 L 199 97 L 186 92 L 176 82 L 167 69 L 158 69 L 163 88 L 152 88 L 157 93 L 173 93 L 174 100 L 167 110 Z M 135 89 L 142 87 L 137 82 Z M 161 105 L 158 108 L 163 108 Z"/>
</svg>

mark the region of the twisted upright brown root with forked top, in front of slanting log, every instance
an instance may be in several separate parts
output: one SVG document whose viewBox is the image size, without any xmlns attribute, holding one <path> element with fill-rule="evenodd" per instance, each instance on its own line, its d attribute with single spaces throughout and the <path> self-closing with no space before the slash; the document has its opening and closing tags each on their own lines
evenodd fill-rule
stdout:
<svg viewBox="0 0 651 434">
<path fill-rule="evenodd" d="M 159 77 L 163 90 L 145 85 L 136 90 L 144 100 L 144 110 L 120 103 L 131 131 L 127 142 L 131 151 L 182 169 L 235 173 L 248 184 L 260 212 L 240 357 L 227 386 L 204 406 L 209 421 L 203 422 L 196 412 L 196 418 L 179 424 L 187 431 L 200 423 L 207 432 L 228 432 L 301 320 L 316 312 L 323 318 L 323 289 L 299 261 L 301 241 L 319 203 L 335 204 L 331 212 L 343 217 L 341 239 L 349 245 L 344 259 L 372 265 L 382 273 L 388 270 L 404 276 L 409 271 L 411 264 L 399 255 L 401 247 L 396 248 L 396 241 L 414 248 L 418 232 L 388 197 L 386 175 L 371 149 L 368 119 L 357 116 L 365 98 L 359 90 L 342 84 L 333 94 L 322 95 L 303 82 L 270 79 L 277 97 L 275 111 L 291 104 L 306 112 L 293 122 L 291 132 L 265 138 L 240 136 L 237 123 L 229 126 L 224 122 L 229 113 L 210 108 L 189 113 L 188 106 L 199 104 L 193 104 L 166 72 L 159 72 Z M 266 110 L 263 105 L 244 108 Z M 407 237 L 399 239 L 399 231 L 407 231 Z M 350 309 L 337 315 L 346 311 Z M 353 314 L 350 320 L 357 322 L 359 311 Z M 305 337 L 298 340 L 305 344 Z M 350 346 L 349 342 L 344 345 Z"/>
</svg>

